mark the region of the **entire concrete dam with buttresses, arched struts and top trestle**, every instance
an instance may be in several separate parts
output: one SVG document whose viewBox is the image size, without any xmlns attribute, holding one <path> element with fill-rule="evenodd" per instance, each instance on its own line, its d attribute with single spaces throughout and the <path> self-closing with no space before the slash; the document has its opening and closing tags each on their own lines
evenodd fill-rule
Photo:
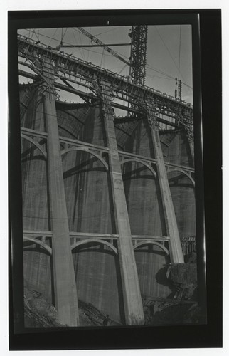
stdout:
<svg viewBox="0 0 229 356">
<path fill-rule="evenodd" d="M 142 325 L 142 298 L 169 297 L 166 268 L 196 236 L 193 108 L 23 36 L 18 52 L 37 71 L 20 85 L 24 285 L 64 325 L 78 300 Z M 58 100 L 55 68 L 87 78 L 85 103 Z"/>
</svg>

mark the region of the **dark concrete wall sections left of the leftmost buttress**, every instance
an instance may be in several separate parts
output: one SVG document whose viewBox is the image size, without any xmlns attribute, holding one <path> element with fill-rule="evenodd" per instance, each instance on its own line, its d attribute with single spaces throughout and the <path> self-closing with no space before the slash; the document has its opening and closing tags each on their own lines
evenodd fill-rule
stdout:
<svg viewBox="0 0 229 356">
<path fill-rule="evenodd" d="M 43 105 L 33 85 L 23 85 L 20 91 L 21 125 L 44 131 Z M 23 105 L 22 105 L 23 103 Z M 28 109 L 26 110 L 26 106 Z M 46 151 L 46 141 L 38 140 Z M 31 142 L 21 139 L 21 174 L 23 194 L 23 229 L 48 231 L 48 178 L 46 159 Z M 48 242 L 47 242 L 48 243 Z M 24 283 L 38 290 L 50 302 L 51 286 L 50 255 L 40 246 L 26 242 L 23 251 Z"/>
</svg>

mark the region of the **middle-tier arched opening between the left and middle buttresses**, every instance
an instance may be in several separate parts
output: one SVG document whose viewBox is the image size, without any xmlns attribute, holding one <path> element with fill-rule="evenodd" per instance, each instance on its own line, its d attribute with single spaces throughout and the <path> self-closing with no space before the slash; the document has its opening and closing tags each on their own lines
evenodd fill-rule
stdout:
<svg viewBox="0 0 229 356">
<path fill-rule="evenodd" d="M 115 234 L 107 155 L 71 147 L 62 157 L 70 231 Z"/>
</svg>

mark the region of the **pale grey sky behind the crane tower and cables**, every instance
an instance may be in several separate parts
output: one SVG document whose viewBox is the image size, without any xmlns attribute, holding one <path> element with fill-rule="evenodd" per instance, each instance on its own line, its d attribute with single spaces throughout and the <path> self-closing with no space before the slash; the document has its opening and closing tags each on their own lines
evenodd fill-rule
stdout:
<svg viewBox="0 0 229 356">
<path fill-rule="evenodd" d="M 131 26 L 85 27 L 85 30 L 105 44 L 130 43 L 128 34 L 131 31 Z M 40 40 L 41 43 L 54 48 L 60 44 L 61 38 L 63 38 L 64 45 L 95 45 L 78 28 L 35 28 L 18 30 L 18 33 L 36 41 Z M 111 48 L 124 59 L 129 60 L 130 46 Z M 103 48 L 61 48 L 61 50 L 120 75 L 129 75 L 129 66 Z M 190 25 L 148 26 L 145 84 L 162 93 L 174 96 L 175 78 L 179 78 L 182 81 L 182 100 L 193 103 L 191 56 Z M 21 78 L 20 82 L 27 83 L 27 80 Z M 61 91 L 60 100 L 75 101 L 75 96 Z"/>
</svg>

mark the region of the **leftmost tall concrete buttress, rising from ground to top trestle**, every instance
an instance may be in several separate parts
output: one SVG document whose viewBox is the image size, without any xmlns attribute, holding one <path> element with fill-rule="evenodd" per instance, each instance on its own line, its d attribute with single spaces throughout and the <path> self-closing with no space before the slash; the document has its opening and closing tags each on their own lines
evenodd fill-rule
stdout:
<svg viewBox="0 0 229 356">
<path fill-rule="evenodd" d="M 44 57 L 43 61 L 43 66 L 46 67 L 46 83 L 44 83 L 46 89 L 43 91 L 43 103 L 48 132 L 48 185 L 51 229 L 53 230 L 55 307 L 58 310 L 59 323 L 68 326 L 78 326 L 79 316 L 75 271 L 70 248 L 55 97 L 52 93 L 54 82 L 53 66 L 47 57 Z"/>
</svg>

